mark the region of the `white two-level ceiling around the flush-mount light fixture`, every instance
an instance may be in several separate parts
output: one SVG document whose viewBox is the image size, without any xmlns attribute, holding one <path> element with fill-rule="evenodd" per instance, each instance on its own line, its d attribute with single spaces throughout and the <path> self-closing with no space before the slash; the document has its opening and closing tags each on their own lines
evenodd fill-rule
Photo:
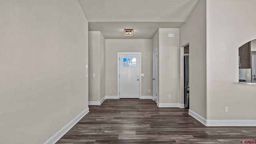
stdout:
<svg viewBox="0 0 256 144">
<path fill-rule="evenodd" d="M 108 38 L 152 38 L 158 28 L 179 28 L 198 0 L 79 0 L 90 31 Z M 134 36 L 124 36 L 133 29 Z"/>
</svg>

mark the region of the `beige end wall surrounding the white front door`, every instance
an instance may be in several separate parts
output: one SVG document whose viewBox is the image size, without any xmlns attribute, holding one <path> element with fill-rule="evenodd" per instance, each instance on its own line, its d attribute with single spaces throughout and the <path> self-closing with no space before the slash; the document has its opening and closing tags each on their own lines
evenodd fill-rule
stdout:
<svg viewBox="0 0 256 144">
<path fill-rule="evenodd" d="M 118 52 L 141 52 L 142 96 L 152 96 L 152 39 L 106 39 L 106 96 L 118 95 Z"/>
</svg>

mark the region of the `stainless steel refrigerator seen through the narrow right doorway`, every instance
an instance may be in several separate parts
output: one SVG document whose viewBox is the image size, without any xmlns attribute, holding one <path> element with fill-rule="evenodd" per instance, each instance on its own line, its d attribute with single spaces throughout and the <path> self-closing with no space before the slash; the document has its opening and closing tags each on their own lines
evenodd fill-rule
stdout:
<svg viewBox="0 0 256 144">
<path fill-rule="evenodd" d="M 184 56 L 184 104 L 189 108 L 189 56 Z"/>
</svg>

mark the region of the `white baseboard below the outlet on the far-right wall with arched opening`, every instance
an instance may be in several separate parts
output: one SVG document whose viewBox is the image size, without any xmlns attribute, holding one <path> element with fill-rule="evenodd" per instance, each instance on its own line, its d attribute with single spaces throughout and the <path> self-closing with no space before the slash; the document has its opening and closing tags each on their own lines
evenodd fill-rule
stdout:
<svg viewBox="0 0 256 144">
<path fill-rule="evenodd" d="M 256 120 L 207 120 L 207 126 L 256 126 Z"/>
</svg>

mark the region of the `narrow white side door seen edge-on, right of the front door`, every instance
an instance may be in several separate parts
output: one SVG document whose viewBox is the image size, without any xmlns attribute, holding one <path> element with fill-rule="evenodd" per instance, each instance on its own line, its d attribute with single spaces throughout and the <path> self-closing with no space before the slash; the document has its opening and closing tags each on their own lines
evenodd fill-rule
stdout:
<svg viewBox="0 0 256 144">
<path fill-rule="evenodd" d="M 157 103 L 157 50 L 153 53 L 153 99 Z"/>
</svg>

